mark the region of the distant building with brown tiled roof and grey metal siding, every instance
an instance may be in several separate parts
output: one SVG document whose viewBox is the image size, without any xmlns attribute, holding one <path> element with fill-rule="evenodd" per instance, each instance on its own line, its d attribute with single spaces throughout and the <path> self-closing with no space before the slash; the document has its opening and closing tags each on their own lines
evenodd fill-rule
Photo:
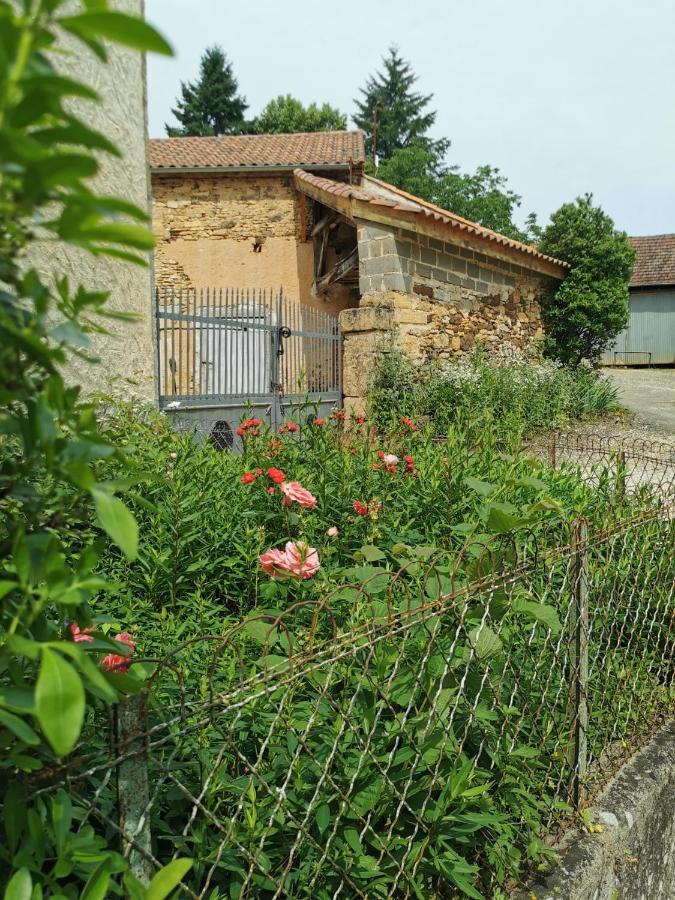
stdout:
<svg viewBox="0 0 675 900">
<path fill-rule="evenodd" d="M 605 352 L 608 365 L 675 365 L 675 234 L 630 238 L 637 250 L 628 327 Z"/>
</svg>

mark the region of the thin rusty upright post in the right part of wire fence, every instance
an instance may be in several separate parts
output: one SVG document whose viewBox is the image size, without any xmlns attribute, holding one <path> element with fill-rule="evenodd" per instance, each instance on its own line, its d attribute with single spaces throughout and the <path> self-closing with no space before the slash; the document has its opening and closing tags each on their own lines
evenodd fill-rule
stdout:
<svg viewBox="0 0 675 900">
<path fill-rule="evenodd" d="M 569 620 L 570 800 L 576 810 L 583 802 L 588 762 L 588 524 L 574 523 L 570 561 L 571 609 Z"/>
</svg>

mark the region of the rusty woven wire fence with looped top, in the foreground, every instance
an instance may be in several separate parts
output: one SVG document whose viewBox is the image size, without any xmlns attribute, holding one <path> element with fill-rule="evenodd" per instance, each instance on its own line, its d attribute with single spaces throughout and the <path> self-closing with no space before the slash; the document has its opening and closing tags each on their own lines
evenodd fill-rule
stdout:
<svg viewBox="0 0 675 900">
<path fill-rule="evenodd" d="M 152 661 L 59 782 L 182 896 L 501 896 L 673 714 L 671 512 L 371 559 Z"/>
</svg>

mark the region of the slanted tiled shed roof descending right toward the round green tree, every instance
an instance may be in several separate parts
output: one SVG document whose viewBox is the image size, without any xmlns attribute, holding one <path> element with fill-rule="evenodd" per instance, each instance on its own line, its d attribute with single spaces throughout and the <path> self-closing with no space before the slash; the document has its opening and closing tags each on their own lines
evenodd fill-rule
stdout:
<svg viewBox="0 0 675 900">
<path fill-rule="evenodd" d="M 407 227 L 413 231 L 421 223 L 436 223 L 447 226 L 456 236 L 492 243 L 495 248 L 508 253 L 512 258 L 517 257 L 522 266 L 544 271 L 554 278 L 562 280 L 570 268 L 568 263 L 539 253 L 536 247 L 530 244 L 523 244 L 476 222 L 456 216 L 446 209 L 441 209 L 440 206 L 414 197 L 377 178 L 366 176 L 360 186 L 356 187 L 313 175 L 302 169 L 296 169 L 294 176 L 299 190 L 327 206 L 340 209 L 343 213 L 347 212 L 351 218 L 366 220 L 371 217 L 376 220 L 386 218 L 399 226 L 405 227 L 408 223 Z M 487 247 L 485 250 L 489 252 Z"/>
</svg>

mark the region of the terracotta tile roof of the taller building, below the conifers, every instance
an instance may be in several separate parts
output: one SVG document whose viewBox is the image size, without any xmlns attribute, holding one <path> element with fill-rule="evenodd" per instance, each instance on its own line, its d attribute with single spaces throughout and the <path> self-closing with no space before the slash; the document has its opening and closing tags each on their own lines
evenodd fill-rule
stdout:
<svg viewBox="0 0 675 900">
<path fill-rule="evenodd" d="M 309 134 L 242 134 L 223 137 L 154 138 L 152 169 L 362 166 L 362 131 L 317 131 Z"/>
</svg>

